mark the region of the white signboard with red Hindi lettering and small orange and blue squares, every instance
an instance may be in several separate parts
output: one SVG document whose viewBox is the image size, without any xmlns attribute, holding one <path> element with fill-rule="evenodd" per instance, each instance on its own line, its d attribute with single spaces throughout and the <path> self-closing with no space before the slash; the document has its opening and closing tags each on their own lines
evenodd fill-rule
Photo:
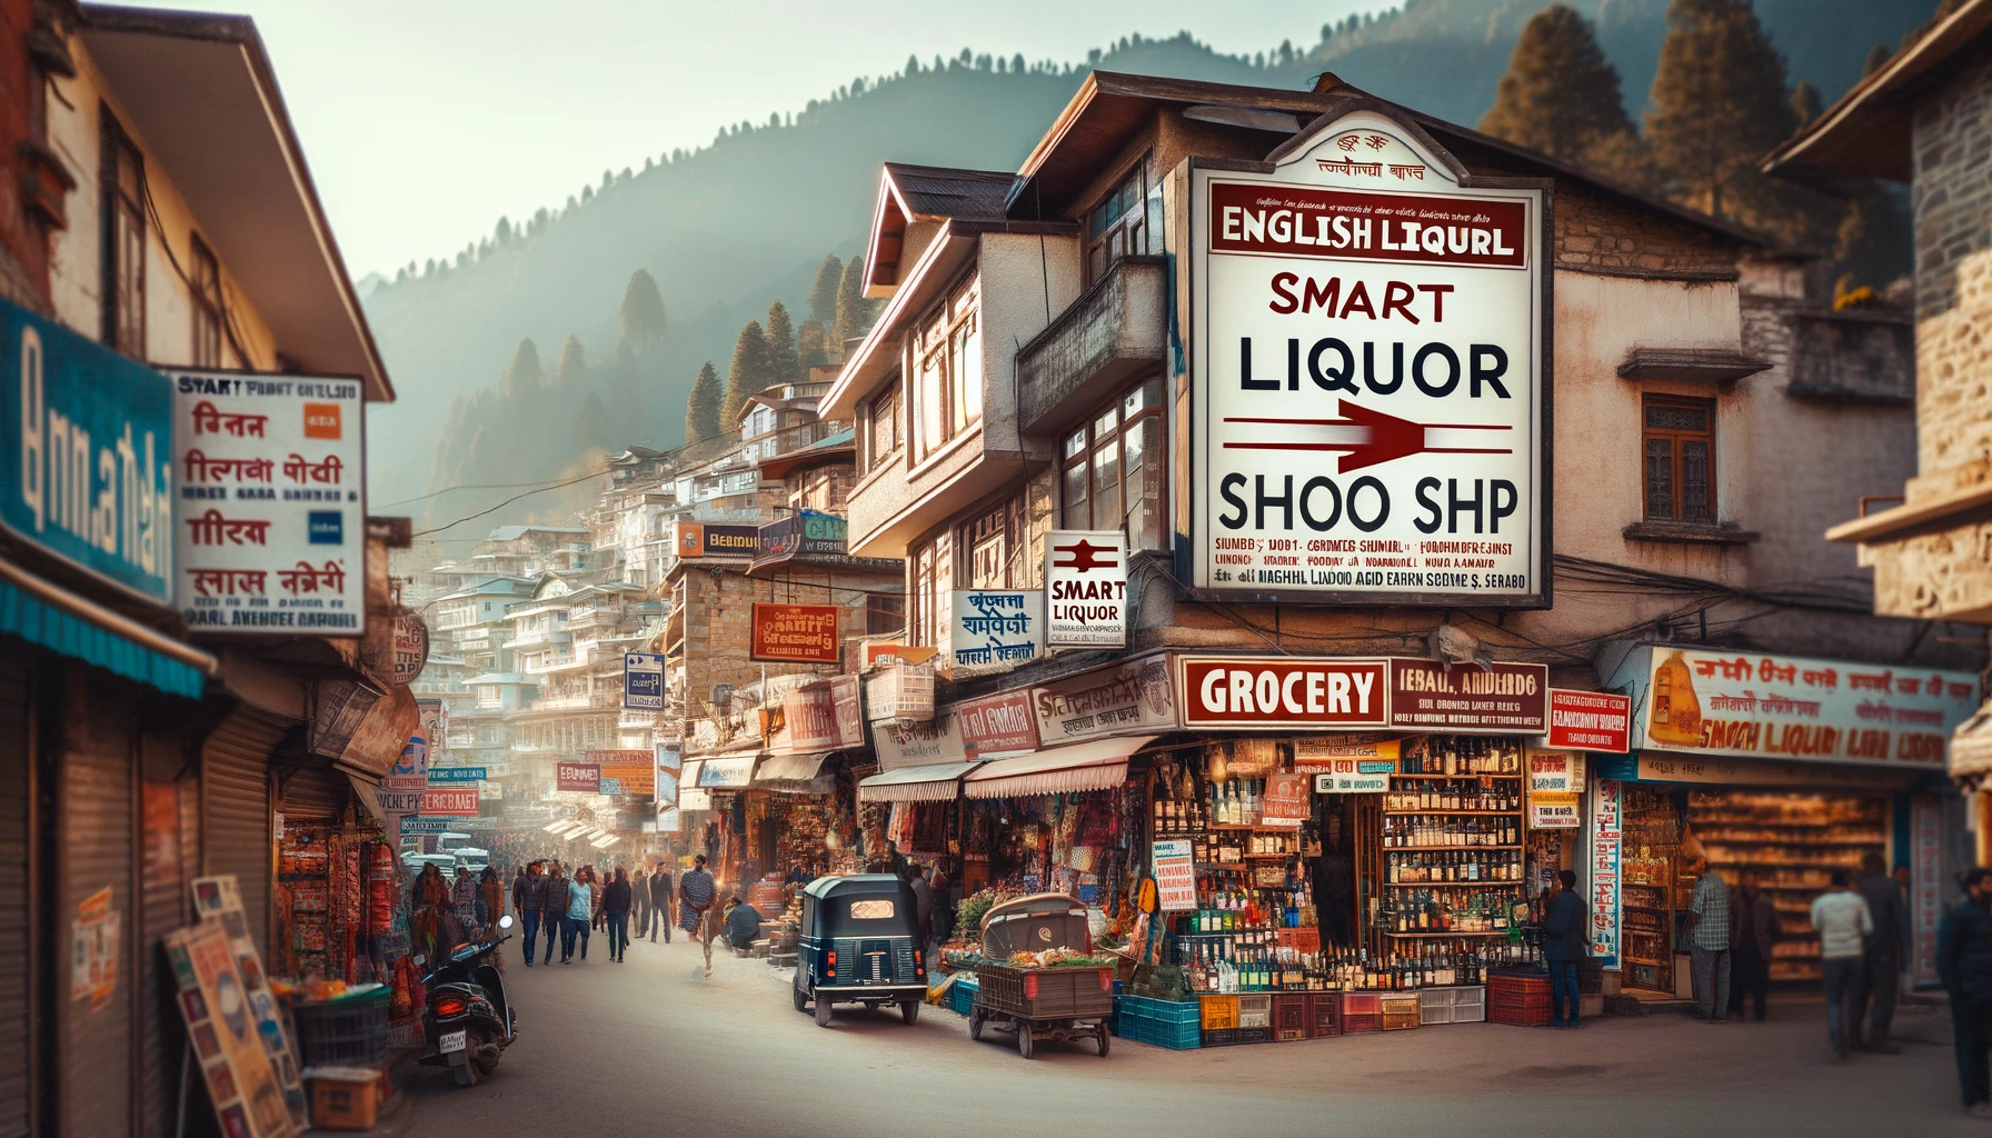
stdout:
<svg viewBox="0 0 1992 1138">
<path fill-rule="evenodd" d="M 367 632 L 367 409 L 357 379 L 173 379 L 175 604 L 193 632 Z"/>
</svg>

